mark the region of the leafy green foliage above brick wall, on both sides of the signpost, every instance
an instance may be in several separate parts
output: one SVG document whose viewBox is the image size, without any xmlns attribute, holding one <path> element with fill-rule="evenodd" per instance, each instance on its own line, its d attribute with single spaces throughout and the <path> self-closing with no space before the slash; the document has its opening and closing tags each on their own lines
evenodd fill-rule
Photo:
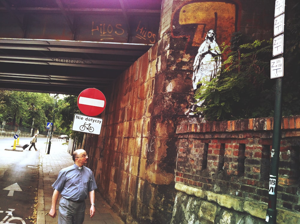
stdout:
<svg viewBox="0 0 300 224">
<path fill-rule="evenodd" d="M 284 76 L 282 115 L 300 114 L 300 3 L 286 7 L 284 31 Z M 272 39 L 250 41 L 241 33 L 232 35 L 230 47 L 216 79 L 204 82 L 194 98 L 204 101 L 195 112 L 206 120 L 268 117 L 274 114 L 275 79 L 270 79 Z"/>
</svg>

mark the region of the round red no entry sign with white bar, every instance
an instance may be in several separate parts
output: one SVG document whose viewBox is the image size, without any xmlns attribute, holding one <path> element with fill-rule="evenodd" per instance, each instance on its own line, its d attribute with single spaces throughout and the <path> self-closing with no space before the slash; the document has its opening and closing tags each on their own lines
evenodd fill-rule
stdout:
<svg viewBox="0 0 300 224">
<path fill-rule="evenodd" d="M 88 88 L 79 94 L 77 105 L 83 114 L 87 116 L 97 116 L 104 111 L 106 99 L 100 90 Z"/>
</svg>

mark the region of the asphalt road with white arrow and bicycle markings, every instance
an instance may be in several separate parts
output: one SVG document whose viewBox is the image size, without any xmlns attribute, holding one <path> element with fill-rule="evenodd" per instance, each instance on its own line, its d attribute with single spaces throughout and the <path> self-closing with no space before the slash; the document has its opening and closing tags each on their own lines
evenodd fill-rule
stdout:
<svg viewBox="0 0 300 224">
<path fill-rule="evenodd" d="M 30 140 L 19 139 L 19 145 L 30 145 Z M 45 150 L 45 142 L 46 139 L 38 138 L 35 145 Z M 16 147 L 20 152 L 5 150 L 12 149 L 13 143 L 13 138 L 0 139 L 0 222 L 30 224 L 38 193 L 39 151 L 29 151 L 29 147 L 24 151 Z"/>
</svg>

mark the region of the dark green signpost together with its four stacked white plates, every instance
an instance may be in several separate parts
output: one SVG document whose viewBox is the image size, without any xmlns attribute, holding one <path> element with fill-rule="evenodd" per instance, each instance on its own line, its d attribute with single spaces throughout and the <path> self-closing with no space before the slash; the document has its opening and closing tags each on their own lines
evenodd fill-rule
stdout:
<svg viewBox="0 0 300 224">
<path fill-rule="evenodd" d="M 274 36 L 280 34 L 273 39 L 273 56 L 283 56 L 283 34 L 284 30 L 284 7 L 285 0 L 275 0 L 274 10 Z M 278 17 L 277 17 L 278 16 Z M 265 223 L 276 224 L 277 220 L 277 187 L 278 187 L 278 170 L 280 155 L 280 139 L 281 139 L 281 91 L 283 77 L 283 57 L 270 61 L 271 79 L 276 78 L 275 104 L 274 104 L 274 123 L 273 123 L 273 140 L 271 150 L 271 167 L 269 178 L 269 200 Z"/>
</svg>

